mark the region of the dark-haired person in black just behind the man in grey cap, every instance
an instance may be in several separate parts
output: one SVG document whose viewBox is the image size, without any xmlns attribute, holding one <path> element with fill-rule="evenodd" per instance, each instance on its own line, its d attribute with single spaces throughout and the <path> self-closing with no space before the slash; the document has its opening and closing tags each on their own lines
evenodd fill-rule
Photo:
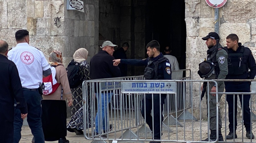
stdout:
<svg viewBox="0 0 256 143">
<path fill-rule="evenodd" d="M 128 50 L 128 48 L 129 44 L 127 42 L 123 43 L 120 49 L 114 51 L 113 57 L 115 57 L 115 59 L 127 59 L 126 51 Z M 120 68 L 121 77 L 127 76 L 127 64 L 120 63 L 118 67 Z"/>
</svg>

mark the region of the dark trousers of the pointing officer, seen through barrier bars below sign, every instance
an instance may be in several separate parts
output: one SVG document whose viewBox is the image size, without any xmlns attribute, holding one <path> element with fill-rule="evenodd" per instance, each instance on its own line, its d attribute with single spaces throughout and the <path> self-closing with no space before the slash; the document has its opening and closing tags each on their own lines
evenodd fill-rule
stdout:
<svg viewBox="0 0 256 143">
<path fill-rule="evenodd" d="M 151 110 L 153 109 L 152 115 L 154 116 L 154 134 L 153 137 L 155 140 L 160 140 L 161 134 L 160 129 L 162 131 L 162 122 L 164 120 L 163 117 L 163 106 L 166 95 L 153 94 L 153 106 L 152 106 L 152 94 L 146 94 L 146 96 L 142 100 L 141 106 L 141 115 L 145 119 L 146 123 L 149 125 L 151 131 L 153 131 L 153 118 L 151 116 Z M 144 103 L 145 102 L 145 103 Z M 161 102 L 161 104 L 160 104 Z M 161 111 L 160 111 L 161 109 Z M 161 121 L 160 121 L 161 120 Z M 160 126 L 161 124 L 161 126 Z"/>
</svg>

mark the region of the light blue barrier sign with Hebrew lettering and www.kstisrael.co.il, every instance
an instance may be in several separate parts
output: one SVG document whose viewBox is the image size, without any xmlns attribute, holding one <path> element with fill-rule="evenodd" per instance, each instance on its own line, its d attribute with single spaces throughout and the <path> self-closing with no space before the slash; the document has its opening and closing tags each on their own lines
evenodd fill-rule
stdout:
<svg viewBox="0 0 256 143">
<path fill-rule="evenodd" d="M 175 93 L 175 82 L 122 82 L 122 93 Z"/>
</svg>

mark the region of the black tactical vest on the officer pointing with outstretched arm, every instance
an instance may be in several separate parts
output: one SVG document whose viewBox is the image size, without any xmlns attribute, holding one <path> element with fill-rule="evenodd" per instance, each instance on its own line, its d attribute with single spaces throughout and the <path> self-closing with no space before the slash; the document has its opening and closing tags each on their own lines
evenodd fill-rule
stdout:
<svg viewBox="0 0 256 143">
<path fill-rule="evenodd" d="M 147 67 L 145 68 L 144 71 L 144 77 L 146 80 L 163 80 L 164 75 L 159 75 L 158 74 L 158 65 L 159 63 L 162 63 L 164 61 L 168 60 L 165 57 L 159 58 L 158 60 L 155 61 L 149 61 Z"/>
</svg>

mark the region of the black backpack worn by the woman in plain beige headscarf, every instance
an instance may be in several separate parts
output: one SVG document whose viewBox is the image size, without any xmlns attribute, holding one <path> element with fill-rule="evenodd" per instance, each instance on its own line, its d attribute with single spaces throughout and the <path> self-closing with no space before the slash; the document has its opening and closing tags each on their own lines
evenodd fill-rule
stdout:
<svg viewBox="0 0 256 143">
<path fill-rule="evenodd" d="M 78 87 L 82 81 L 80 80 L 80 65 L 78 62 L 74 62 L 74 59 L 72 59 L 69 62 L 68 67 L 66 68 L 67 76 L 69 80 L 69 87 L 71 89 Z"/>
</svg>

